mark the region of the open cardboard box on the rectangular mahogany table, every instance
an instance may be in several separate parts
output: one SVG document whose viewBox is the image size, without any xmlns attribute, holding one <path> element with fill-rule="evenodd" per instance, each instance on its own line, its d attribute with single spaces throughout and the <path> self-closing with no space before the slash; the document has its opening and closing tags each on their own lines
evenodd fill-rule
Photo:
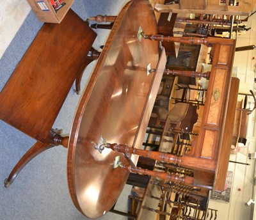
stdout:
<svg viewBox="0 0 256 220">
<path fill-rule="evenodd" d="M 74 0 L 63 0 L 66 4 L 56 12 L 50 0 L 28 0 L 37 19 L 48 23 L 60 23 L 73 2 Z"/>
</svg>

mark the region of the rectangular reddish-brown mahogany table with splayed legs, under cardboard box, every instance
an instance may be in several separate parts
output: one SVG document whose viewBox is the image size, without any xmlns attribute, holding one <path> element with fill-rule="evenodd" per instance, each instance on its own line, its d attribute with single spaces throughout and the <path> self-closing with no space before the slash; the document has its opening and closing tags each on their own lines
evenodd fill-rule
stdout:
<svg viewBox="0 0 256 220">
<path fill-rule="evenodd" d="M 61 24 L 45 23 L 1 91 L 0 119 L 37 141 L 13 168 L 6 187 L 39 153 L 61 143 L 67 147 L 68 138 L 52 125 L 75 80 L 79 92 L 95 38 L 72 10 Z"/>
</svg>

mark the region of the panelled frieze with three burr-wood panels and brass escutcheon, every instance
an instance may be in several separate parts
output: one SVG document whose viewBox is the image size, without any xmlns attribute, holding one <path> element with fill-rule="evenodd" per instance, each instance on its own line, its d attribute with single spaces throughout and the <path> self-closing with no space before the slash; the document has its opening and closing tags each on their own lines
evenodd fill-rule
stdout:
<svg viewBox="0 0 256 220">
<path fill-rule="evenodd" d="M 230 113 L 227 113 L 228 102 L 230 102 L 228 95 L 230 94 L 230 96 L 236 97 L 237 91 L 230 91 L 232 60 L 234 59 L 234 46 L 236 42 L 223 38 L 208 38 L 208 42 L 214 44 L 214 58 L 212 60 L 212 71 L 209 79 L 204 113 L 200 124 L 199 136 L 193 143 L 193 146 L 196 146 L 193 148 L 194 150 L 191 151 L 191 154 L 188 155 L 190 156 L 189 159 L 186 158 L 188 156 L 182 157 L 182 166 L 194 170 L 204 169 L 210 171 L 217 169 L 218 163 L 220 163 L 220 166 L 223 168 L 226 168 L 228 165 L 229 153 L 225 152 L 230 151 L 230 145 L 223 145 L 223 142 L 227 141 L 226 138 L 228 138 L 229 134 L 232 138 L 232 132 L 228 129 L 225 132 L 223 130 L 227 125 L 230 127 L 233 126 L 234 122 L 228 117 L 230 117 L 230 115 L 233 114 L 232 111 L 236 111 L 236 109 L 231 109 Z M 227 65 L 218 63 L 219 56 L 223 54 L 221 53 L 221 47 L 223 47 L 223 45 L 224 48 L 227 45 L 230 47 L 230 49 L 228 49 L 230 53 L 225 53 L 227 60 L 220 58 L 221 63 L 227 63 Z M 217 88 L 220 89 L 220 97 L 214 100 L 212 93 Z M 219 171 L 220 173 L 222 172 L 223 176 L 227 175 L 226 169 L 222 171 L 220 168 Z M 216 177 L 214 184 L 219 185 L 220 187 L 218 189 L 221 189 L 221 187 L 224 187 L 224 185 L 222 185 L 222 177 L 219 178 L 218 175 Z M 205 184 L 207 183 L 205 182 Z"/>
</svg>

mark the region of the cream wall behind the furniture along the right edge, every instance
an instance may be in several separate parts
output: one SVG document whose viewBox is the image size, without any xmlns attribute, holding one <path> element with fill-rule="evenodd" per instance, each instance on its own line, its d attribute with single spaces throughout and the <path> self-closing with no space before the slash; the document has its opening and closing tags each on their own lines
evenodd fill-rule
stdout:
<svg viewBox="0 0 256 220">
<path fill-rule="evenodd" d="M 256 13 L 246 22 L 247 28 L 251 27 L 246 34 L 239 33 L 237 36 L 236 47 L 246 45 L 256 45 Z M 254 57 L 254 59 L 253 59 Z M 234 59 L 234 67 L 237 67 L 237 77 L 240 79 L 240 92 L 248 93 L 249 90 L 256 91 L 254 78 L 256 77 L 256 49 L 253 51 L 236 52 Z M 252 98 L 249 100 L 248 107 L 253 107 Z M 244 162 L 250 165 L 235 164 L 230 162 L 228 171 L 233 172 L 232 189 L 230 202 L 224 203 L 220 201 L 210 200 L 209 207 L 218 209 L 218 218 L 250 220 L 255 219 L 253 216 L 253 205 L 246 207 L 246 203 L 250 198 L 255 199 L 255 160 L 248 159 L 248 152 L 256 152 L 256 125 L 255 112 L 250 114 L 248 119 L 247 143 L 245 152 L 237 152 L 230 155 L 230 161 Z M 243 144 L 241 144 L 243 146 Z M 239 191 L 241 189 L 241 191 Z"/>
</svg>

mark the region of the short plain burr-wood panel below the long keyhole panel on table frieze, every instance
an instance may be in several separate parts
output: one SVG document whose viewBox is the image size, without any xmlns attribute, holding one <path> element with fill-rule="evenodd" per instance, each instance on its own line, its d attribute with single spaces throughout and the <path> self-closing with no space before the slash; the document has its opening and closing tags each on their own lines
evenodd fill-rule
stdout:
<svg viewBox="0 0 256 220">
<path fill-rule="evenodd" d="M 204 143 L 202 147 L 202 157 L 212 158 L 214 146 L 216 145 L 218 132 L 216 130 L 205 130 Z"/>
</svg>

